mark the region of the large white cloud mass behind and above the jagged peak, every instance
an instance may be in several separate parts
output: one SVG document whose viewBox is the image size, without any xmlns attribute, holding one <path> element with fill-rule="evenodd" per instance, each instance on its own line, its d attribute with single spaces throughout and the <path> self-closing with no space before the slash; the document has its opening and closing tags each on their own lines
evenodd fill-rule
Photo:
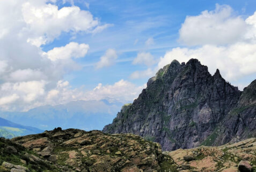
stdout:
<svg viewBox="0 0 256 172">
<path fill-rule="evenodd" d="M 180 41 L 196 48 L 174 48 L 160 58 L 158 69 L 170 64 L 198 58 L 214 74 L 220 69 L 228 81 L 256 73 L 256 13 L 243 20 L 231 15 L 227 5 L 216 5 L 214 11 L 203 11 L 195 17 L 187 17 L 180 29 Z M 248 83 L 238 83 L 239 89 Z"/>
</svg>

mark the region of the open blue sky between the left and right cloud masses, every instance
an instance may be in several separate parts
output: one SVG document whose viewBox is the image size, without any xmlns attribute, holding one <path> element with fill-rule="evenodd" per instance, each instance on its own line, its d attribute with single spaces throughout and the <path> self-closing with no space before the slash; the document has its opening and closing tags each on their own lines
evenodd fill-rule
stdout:
<svg viewBox="0 0 256 172">
<path fill-rule="evenodd" d="M 74 1 L 74 5 L 82 10 L 89 10 L 94 17 L 113 26 L 98 34 L 78 34 L 72 41 L 90 45 L 85 58 L 76 61 L 82 70 L 71 72 L 64 76 L 73 87 L 86 85 L 86 89 L 93 89 L 99 82 L 113 84 L 121 79 L 137 85 L 147 82 L 148 78 L 130 79 L 134 71 L 147 69 L 144 65 L 132 65 L 138 52 L 150 52 L 153 57 L 164 56 L 166 51 L 184 45 L 177 42 L 179 29 L 187 15 L 199 15 L 204 10 L 214 10 L 217 4 L 227 4 L 234 13 L 244 18 L 255 11 L 255 1 Z M 59 3 L 59 7 L 69 6 L 69 3 Z M 153 45 L 146 46 L 145 41 L 153 38 Z M 64 34 L 53 43 L 42 46 L 48 51 L 56 46 L 64 46 L 70 40 L 70 34 Z M 135 41 L 137 43 L 135 44 Z M 116 65 L 102 69 L 94 69 L 107 49 L 115 49 L 118 53 Z M 255 74 L 253 75 L 255 76 Z"/>
</svg>

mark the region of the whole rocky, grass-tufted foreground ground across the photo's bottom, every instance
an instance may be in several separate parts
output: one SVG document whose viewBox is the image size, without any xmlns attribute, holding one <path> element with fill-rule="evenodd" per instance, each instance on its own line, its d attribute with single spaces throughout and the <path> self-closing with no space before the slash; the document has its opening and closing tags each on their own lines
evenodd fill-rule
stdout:
<svg viewBox="0 0 256 172">
<path fill-rule="evenodd" d="M 0 171 L 253 171 L 256 138 L 162 152 L 132 134 L 78 129 L 0 139 Z"/>
</svg>

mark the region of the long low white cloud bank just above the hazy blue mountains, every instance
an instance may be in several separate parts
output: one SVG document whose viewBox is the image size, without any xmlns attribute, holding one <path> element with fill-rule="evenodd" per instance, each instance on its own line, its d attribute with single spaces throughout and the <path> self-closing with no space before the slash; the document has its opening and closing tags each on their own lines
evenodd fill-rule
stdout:
<svg viewBox="0 0 256 172">
<path fill-rule="evenodd" d="M 127 103 L 137 98 L 145 87 L 145 84 L 137 86 L 131 82 L 120 80 L 113 85 L 99 83 L 93 90 L 84 91 L 83 88 L 72 89 L 68 81 L 60 80 L 56 88 L 48 91 L 45 97 L 46 100 L 42 102 L 44 104 L 58 105 L 76 100 L 107 99 L 109 102 L 120 101 L 121 103 Z"/>
</svg>

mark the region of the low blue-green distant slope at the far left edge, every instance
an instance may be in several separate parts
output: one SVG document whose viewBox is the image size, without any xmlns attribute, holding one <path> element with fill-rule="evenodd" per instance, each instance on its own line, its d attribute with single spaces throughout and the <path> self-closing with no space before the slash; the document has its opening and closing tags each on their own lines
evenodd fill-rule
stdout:
<svg viewBox="0 0 256 172">
<path fill-rule="evenodd" d="M 43 130 L 34 127 L 23 126 L 21 124 L 13 123 L 11 121 L 0 118 L 0 137 L 13 138 L 16 136 L 38 134 L 40 132 L 43 132 Z"/>
</svg>

